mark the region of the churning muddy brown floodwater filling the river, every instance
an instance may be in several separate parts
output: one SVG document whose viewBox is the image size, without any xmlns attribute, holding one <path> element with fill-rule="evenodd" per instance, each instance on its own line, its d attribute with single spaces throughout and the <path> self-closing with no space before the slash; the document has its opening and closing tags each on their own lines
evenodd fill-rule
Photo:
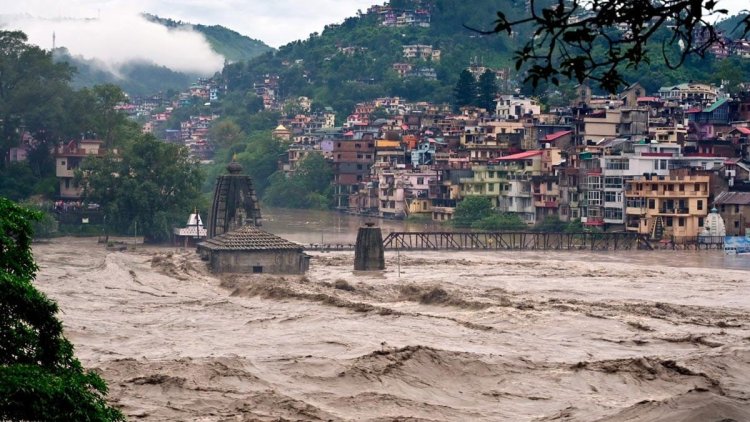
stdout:
<svg viewBox="0 0 750 422">
<path fill-rule="evenodd" d="M 216 277 L 191 250 L 34 254 L 131 420 L 750 420 L 747 258 L 387 252 L 354 273 L 336 252 Z"/>
</svg>

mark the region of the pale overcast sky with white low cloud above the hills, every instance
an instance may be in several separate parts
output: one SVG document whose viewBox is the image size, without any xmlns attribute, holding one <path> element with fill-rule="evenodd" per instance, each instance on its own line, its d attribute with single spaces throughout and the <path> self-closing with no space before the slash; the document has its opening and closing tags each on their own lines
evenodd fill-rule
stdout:
<svg viewBox="0 0 750 422">
<path fill-rule="evenodd" d="M 176 70 L 210 74 L 223 59 L 202 36 L 168 31 L 139 17 L 147 12 L 204 25 L 223 25 L 272 47 L 305 39 L 329 23 L 340 23 L 357 10 L 384 0 L 2 0 L 0 26 L 21 29 L 29 41 L 49 49 L 52 32 L 57 46 L 111 68 L 139 58 Z M 719 0 L 737 12 L 748 0 Z M 492 19 L 488 16 L 488 19 Z"/>
</svg>

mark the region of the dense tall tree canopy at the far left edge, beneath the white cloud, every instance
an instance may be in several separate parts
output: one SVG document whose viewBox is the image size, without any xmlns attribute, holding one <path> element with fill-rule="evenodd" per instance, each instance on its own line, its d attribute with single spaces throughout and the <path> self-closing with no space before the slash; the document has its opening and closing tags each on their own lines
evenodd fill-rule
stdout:
<svg viewBox="0 0 750 422">
<path fill-rule="evenodd" d="M 49 52 L 28 44 L 23 32 L 0 31 L 0 195 L 15 200 L 54 196 L 52 151 L 60 143 L 96 134 L 113 147 L 140 133 L 114 108 L 125 99 L 119 87 L 74 91 L 72 73 Z M 10 162 L 10 149 L 24 138 L 26 161 Z"/>
</svg>

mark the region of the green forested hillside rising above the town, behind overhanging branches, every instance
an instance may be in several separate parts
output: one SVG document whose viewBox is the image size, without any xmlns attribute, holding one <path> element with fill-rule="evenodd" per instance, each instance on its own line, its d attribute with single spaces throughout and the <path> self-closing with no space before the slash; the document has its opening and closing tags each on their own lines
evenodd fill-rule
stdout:
<svg viewBox="0 0 750 422">
<path fill-rule="evenodd" d="M 536 2 L 536 6 L 542 8 L 547 3 Z M 498 11 L 511 20 L 527 15 L 524 0 L 394 0 L 388 5 L 396 15 L 402 11 L 426 12 L 429 25 L 388 25 L 386 15 L 373 8 L 276 52 L 226 66 L 224 77 L 229 89 L 246 92 L 265 75 L 278 75 L 280 98 L 307 96 L 317 106 L 333 107 L 339 115 L 350 112 L 357 102 L 379 96 L 451 102 L 461 70 L 472 63 L 505 71 L 507 78 L 498 81 L 501 89 L 520 89 L 541 96 L 545 102 L 552 102 L 548 96 L 569 95 L 574 89 L 575 84 L 567 81 L 554 89 L 540 85 L 532 90 L 529 84 L 523 84 L 524 69 L 516 71 L 514 52 L 532 35 L 528 28 L 520 28 L 512 36 L 482 35 L 472 30 L 492 29 Z M 654 90 L 687 80 L 720 83 L 722 71 L 731 73 L 730 66 L 722 70 L 711 57 L 691 58 L 683 68 L 667 71 L 661 42 L 668 36 L 665 31 L 654 37 L 649 47 L 653 53 L 650 64 L 624 70 L 629 82 L 640 80 Z M 403 46 L 415 44 L 439 50 L 439 57 L 405 57 Z M 667 46 L 666 53 L 673 54 L 677 48 Z M 396 63 L 410 66 L 413 75 L 400 75 L 394 69 Z"/>
</svg>

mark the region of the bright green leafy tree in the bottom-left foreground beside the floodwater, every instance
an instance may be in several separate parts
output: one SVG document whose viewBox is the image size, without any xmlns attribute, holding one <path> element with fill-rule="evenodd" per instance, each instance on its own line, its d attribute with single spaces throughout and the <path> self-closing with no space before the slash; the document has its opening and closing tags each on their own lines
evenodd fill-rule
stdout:
<svg viewBox="0 0 750 422">
<path fill-rule="evenodd" d="M 122 421 L 107 385 L 63 336 L 57 305 L 32 285 L 32 221 L 0 197 L 0 420 Z"/>
</svg>

